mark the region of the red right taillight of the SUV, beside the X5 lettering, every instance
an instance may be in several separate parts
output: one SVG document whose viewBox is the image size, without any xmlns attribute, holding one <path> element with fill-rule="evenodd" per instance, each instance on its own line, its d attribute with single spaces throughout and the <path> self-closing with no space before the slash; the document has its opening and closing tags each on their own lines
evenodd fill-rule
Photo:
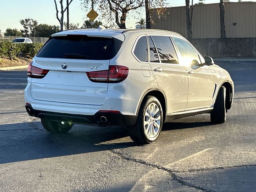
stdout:
<svg viewBox="0 0 256 192">
<path fill-rule="evenodd" d="M 86 72 L 92 82 L 118 83 L 128 76 L 129 68 L 121 65 L 110 65 L 108 70 Z"/>
</svg>

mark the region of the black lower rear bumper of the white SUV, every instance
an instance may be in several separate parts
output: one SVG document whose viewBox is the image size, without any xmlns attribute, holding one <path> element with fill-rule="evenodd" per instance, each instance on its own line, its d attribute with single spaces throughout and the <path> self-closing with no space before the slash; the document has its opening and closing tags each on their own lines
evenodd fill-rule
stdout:
<svg viewBox="0 0 256 192">
<path fill-rule="evenodd" d="M 94 124 L 100 126 L 122 125 L 133 126 L 136 123 L 136 115 L 123 115 L 121 113 L 96 112 L 94 115 L 66 114 L 35 110 L 31 105 L 26 105 L 26 111 L 30 116 L 38 118 L 48 118 L 60 121 L 72 121 L 78 124 Z M 100 117 L 106 117 L 106 122 L 102 122 Z"/>
</svg>

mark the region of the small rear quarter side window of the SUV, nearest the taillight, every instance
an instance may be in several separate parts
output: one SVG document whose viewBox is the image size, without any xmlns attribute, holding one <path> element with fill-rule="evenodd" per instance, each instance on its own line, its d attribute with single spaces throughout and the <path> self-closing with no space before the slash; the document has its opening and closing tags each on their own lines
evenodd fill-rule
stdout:
<svg viewBox="0 0 256 192">
<path fill-rule="evenodd" d="M 148 62 L 148 46 L 146 36 L 141 37 L 134 48 L 134 55 L 142 61 Z"/>
</svg>

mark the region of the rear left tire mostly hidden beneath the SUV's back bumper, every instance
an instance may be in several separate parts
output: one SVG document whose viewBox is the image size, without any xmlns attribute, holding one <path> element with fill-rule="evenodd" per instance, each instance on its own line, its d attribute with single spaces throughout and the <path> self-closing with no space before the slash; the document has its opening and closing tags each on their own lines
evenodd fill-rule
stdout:
<svg viewBox="0 0 256 192">
<path fill-rule="evenodd" d="M 68 132 L 74 125 L 74 123 L 69 121 L 59 122 L 45 118 L 41 118 L 41 123 L 46 131 L 62 134 Z"/>
</svg>

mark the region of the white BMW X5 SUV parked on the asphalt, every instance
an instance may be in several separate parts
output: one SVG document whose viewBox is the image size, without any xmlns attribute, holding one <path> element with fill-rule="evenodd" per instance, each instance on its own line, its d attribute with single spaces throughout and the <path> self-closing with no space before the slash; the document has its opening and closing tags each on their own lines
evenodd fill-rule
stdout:
<svg viewBox="0 0 256 192">
<path fill-rule="evenodd" d="M 148 144 L 173 119 L 210 113 L 225 122 L 234 84 L 175 32 L 74 29 L 53 34 L 34 57 L 24 94 L 49 132 L 128 126 L 132 140 Z"/>
</svg>

